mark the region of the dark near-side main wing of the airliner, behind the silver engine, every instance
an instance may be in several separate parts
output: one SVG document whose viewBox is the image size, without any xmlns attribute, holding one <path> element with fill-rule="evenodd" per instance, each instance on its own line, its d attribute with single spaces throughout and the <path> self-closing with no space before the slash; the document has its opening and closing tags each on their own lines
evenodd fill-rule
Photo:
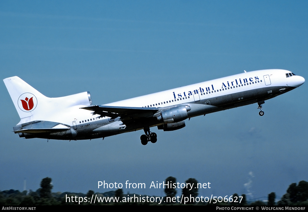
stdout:
<svg viewBox="0 0 308 212">
<path fill-rule="evenodd" d="M 158 108 L 117 107 L 104 105 L 93 105 L 82 109 L 91 110 L 93 111 L 93 114 L 98 114 L 101 117 L 108 116 L 112 119 L 121 117 L 122 120 L 127 118 L 150 118 L 153 117 L 153 115 L 159 110 Z"/>
</svg>

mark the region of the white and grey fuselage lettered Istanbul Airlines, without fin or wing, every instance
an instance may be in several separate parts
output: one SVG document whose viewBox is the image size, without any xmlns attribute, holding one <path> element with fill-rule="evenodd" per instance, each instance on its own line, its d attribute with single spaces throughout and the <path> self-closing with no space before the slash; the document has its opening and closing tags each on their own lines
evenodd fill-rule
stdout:
<svg viewBox="0 0 308 212">
<path fill-rule="evenodd" d="M 135 116 L 138 117 L 138 114 L 130 115 L 130 120 L 124 119 L 120 115 L 119 117 L 111 118 L 108 115 L 93 114 L 92 111 L 83 109 L 89 104 L 66 106 L 60 108 L 59 111 L 59 101 L 55 101 L 57 107 L 54 107 L 54 110 L 51 109 L 49 114 L 33 113 L 32 116 L 23 118 L 19 125 L 25 122 L 32 123 L 36 120 L 41 120 L 60 123 L 71 128 L 70 132 L 35 135 L 35 137 L 42 138 L 79 140 L 107 137 L 166 124 L 167 122 L 162 121 L 162 112 L 177 106 L 188 108 L 187 118 L 190 118 L 247 104 L 260 103 L 297 88 L 304 81 L 303 77 L 294 75 L 287 70 L 250 71 L 102 105 L 106 107 L 152 108 L 157 110 L 153 116 L 144 117 L 143 119 L 134 119 Z M 182 122 L 184 123 L 184 120 Z M 34 127 L 32 126 L 32 128 Z M 173 130 L 172 126 L 170 130 Z M 22 137 L 27 136 L 22 135 Z"/>
</svg>

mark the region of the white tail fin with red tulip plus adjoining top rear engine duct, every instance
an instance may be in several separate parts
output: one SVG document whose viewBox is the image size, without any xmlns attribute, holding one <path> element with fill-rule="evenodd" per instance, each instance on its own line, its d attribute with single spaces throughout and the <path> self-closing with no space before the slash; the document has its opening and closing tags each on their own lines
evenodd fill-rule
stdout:
<svg viewBox="0 0 308 212">
<path fill-rule="evenodd" d="M 35 90 L 18 76 L 3 80 L 20 117 L 19 124 L 35 120 L 61 122 L 72 111 L 92 104 L 89 92 L 49 98 Z"/>
</svg>

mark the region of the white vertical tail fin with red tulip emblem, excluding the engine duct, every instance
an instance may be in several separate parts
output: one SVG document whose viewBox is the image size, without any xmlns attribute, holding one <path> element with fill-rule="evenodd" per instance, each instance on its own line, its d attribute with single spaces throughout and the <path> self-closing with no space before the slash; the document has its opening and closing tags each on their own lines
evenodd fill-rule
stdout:
<svg viewBox="0 0 308 212">
<path fill-rule="evenodd" d="M 35 108 L 39 104 L 39 100 L 49 99 L 18 76 L 9 77 L 3 81 L 10 93 L 20 119 L 32 116 Z"/>
</svg>

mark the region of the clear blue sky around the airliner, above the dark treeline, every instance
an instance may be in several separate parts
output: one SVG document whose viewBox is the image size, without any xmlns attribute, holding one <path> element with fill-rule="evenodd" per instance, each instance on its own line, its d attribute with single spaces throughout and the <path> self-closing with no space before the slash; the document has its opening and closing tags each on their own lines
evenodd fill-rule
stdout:
<svg viewBox="0 0 308 212">
<path fill-rule="evenodd" d="M 306 1 L 1 1 L 0 75 L 17 75 L 45 96 L 91 92 L 107 104 L 153 92 L 270 68 L 308 78 Z M 0 190 L 98 189 L 98 181 L 146 183 L 190 177 L 200 196 L 282 196 L 308 181 L 306 84 L 257 104 L 200 116 L 173 132 L 151 129 L 91 141 L 22 139 L 19 117 L 2 91 Z M 178 190 L 178 194 L 181 190 Z"/>
</svg>

